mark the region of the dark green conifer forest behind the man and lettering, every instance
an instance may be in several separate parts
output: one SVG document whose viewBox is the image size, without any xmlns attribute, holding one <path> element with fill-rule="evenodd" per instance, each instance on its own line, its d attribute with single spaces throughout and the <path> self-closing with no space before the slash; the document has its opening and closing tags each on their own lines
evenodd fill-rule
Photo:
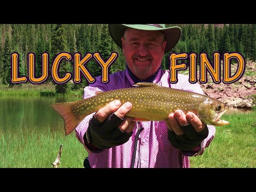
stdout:
<svg viewBox="0 0 256 192">
<path fill-rule="evenodd" d="M 179 43 L 166 53 L 162 69 L 169 69 L 171 53 L 207 53 L 213 62 L 213 53 L 238 52 L 245 60 L 256 60 L 256 25 L 230 24 L 214 26 L 212 24 L 166 24 L 166 27 L 179 26 L 182 30 Z M 42 54 L 49 53 L 49 70 L 51 63 L 61 52 L 71 55 L 81 53 L 100 53 L 107 60 L 111 53 L 117 52 L 118 58 L 111 65 L 109 73 L 125 69 L 122 50 L 108 34 L 107 24 L 0 24 L 0 85 L 19 86 L 11 83 L 11 54 L 19 54 L 19 76 L 28 74 L 28 54 L 35 54 L 35 76 L 42 75 Z M 186 62 L 186 61 L 185 61 Z M 101 67 L 94 59 L 86 64 L 86 68 L 94 76 L 101 75 Z M 62 60 L 59 74 L 73 70 L 73 62 Z M 49 73 L 50 74 L 50 73 Z M 51 77 L 47 80 L 51 81 Z M 66 93 L 68 89 L 77 90 L 88 85 L 82 77 L 79 84 L 55 84 L 57 93 Z"/>
</svg>

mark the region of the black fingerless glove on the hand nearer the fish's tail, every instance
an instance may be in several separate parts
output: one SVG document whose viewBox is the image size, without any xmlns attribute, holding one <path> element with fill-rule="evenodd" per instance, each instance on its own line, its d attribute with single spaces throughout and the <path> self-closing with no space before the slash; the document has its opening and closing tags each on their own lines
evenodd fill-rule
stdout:
<svg viewBox="0 0 256 192">
<path fill-rule="evenodd" d="M 123 132 L 118 128 L 122 120 L 114 113 L 103 123 L 93 116 L 85 133 L 87 142 L 100 149 L 124 144 L 132 136 L 132 133 Z"/>
</svg>

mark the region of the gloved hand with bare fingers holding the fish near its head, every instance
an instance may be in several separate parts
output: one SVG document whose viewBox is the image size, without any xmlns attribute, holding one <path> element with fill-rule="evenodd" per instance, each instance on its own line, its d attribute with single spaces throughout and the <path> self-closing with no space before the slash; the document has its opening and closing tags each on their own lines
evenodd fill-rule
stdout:
<svg viewBox="0 0 256 192">
<path fill-rule="evenodd" d="M 209 133 L 207 126 L 191 112 L 185 115 L 183 111 L 176 110 L 165 122 L 169 141 L 180 150 L 193 150 Z"/>
</svg>

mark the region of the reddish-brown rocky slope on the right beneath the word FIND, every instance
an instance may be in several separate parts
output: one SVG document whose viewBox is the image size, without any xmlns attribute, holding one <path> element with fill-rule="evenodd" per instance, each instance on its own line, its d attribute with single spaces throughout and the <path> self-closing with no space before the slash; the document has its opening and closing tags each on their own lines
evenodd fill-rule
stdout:
<svg viewBox="0 0 256 192">
<path fill-rule="evenodd" d="M 231 75 L 235 74 L 237 64 L 231 67 Z M 222 77 L 222 76 L 221 76 Z M 209 80 L 212 78 L 208 77 Z M 247 61 L 245 73 L 239 81 L 233 84 L 201 84 L 206 95 L 226 103 L 229 107 L 251 109 L 255 106 L 253 94 L 256 94 L 256 62 Z"/>
</svg>

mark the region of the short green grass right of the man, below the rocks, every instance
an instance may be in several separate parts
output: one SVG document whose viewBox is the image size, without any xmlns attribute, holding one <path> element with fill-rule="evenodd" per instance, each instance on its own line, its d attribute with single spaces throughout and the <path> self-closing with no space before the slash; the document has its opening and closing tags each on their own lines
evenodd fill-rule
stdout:
<svg viewBox="0 0 256 192">
<path fill-rule="evenodd" d="M 223 115 L 229 125 L 216 127 L 202 156 L 190 157 L 191 167 L 256 167 L 256 111 Z"/>
</svg>

